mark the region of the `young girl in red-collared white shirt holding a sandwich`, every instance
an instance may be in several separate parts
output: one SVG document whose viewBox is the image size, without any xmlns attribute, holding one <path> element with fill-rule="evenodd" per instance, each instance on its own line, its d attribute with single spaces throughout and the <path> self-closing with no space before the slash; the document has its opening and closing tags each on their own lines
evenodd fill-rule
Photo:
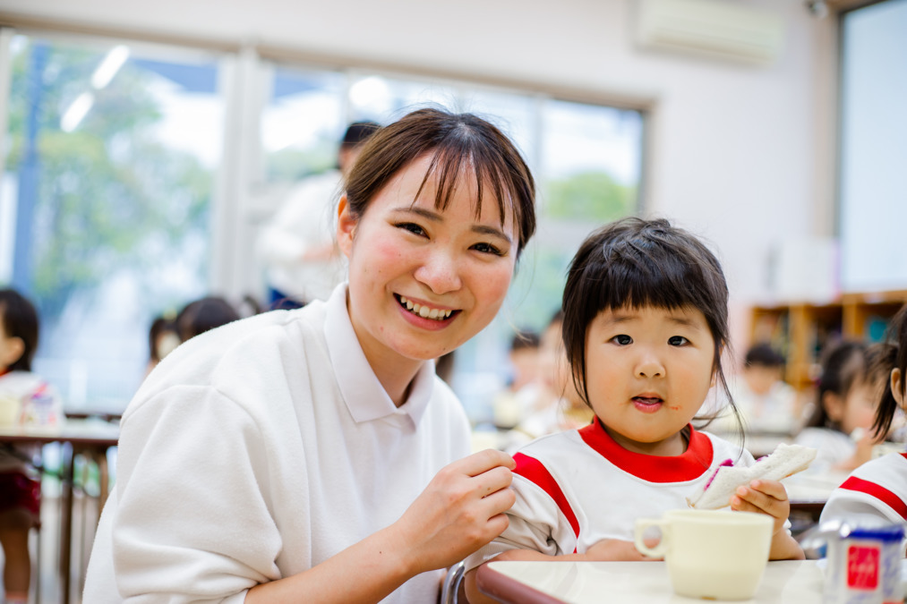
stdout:
<svg viewBox="0 0 907 604">
<path fill-rule="evenodd" d="M 500 538 L 467 569 L 502 560 L 643 560 L 638 518 L 686 508 L 727 459 L 752 456 L 690 421 L 716 380 L 727 389 L 727 285 L 717 259 L 666 220 L 623 219 L 590 235 L 571 263 L 563 338 L 593 424 L 542 437 L 514 455 L 517 500 Z M 803 558 L 785 530 L 784 486 L 753 481 L 731 507 L 775 519 L 771 558 Z M 482 601 L 474 570 L 470 601 Z"/>
</svg>

